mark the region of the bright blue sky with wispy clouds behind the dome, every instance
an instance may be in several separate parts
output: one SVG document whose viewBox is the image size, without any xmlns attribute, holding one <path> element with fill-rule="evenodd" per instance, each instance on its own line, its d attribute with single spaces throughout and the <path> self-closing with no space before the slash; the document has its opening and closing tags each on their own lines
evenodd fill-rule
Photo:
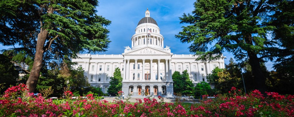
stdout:
<svg viewBox="0 0 294 117">
<path fill-rule="evenodd" d="M 148 8 L 150 16 L 154 18 L 164 37 L 164 46 L 170 46 L 173 54 L 193 54 L 187 49 L 190 44 L 181 43 L 175 35 L 182 30 L 178 17 L 183 13 L 191 13 L 195 0 L 100 0 L 97 7 L 98 15 L 112 21 L 107 28 L 112 41 L 107 52 L 98 54 L 121 54 L 124 46 L 131 47 L 131 37 L 141 18 L 145 17 Z M 6 49 L 0 45 L 0 50 Z M 228 64 L 232 54 L 225 52 L 225 63 Z M 268 70 L 272 70 L 272 62 L 266 63 Z"/>
</svg>

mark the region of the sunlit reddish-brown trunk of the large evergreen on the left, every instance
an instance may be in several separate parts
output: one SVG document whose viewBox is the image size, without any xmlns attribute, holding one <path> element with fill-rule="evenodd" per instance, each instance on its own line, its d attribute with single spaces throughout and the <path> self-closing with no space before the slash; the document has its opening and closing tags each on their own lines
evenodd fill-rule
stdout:
<svg viewBox="0 0 294 117">
<path fill-rule="evenodd" d="M 48 35 L 48 30 L 41 28 L 41 31 L 38 34 L 34 64 L 31 69 L 29 79 L 26 81 L 26 86 L 29 89 L 28 91 L 29 93 L 34 93 L 37 87 L 37 82 L 38 82 L 38 79 L 40 76 L 40 70 L 42 67 L 42 61 L 44 56 L 44 45 L 45 45 L 47 35 Z"/>
</svg>

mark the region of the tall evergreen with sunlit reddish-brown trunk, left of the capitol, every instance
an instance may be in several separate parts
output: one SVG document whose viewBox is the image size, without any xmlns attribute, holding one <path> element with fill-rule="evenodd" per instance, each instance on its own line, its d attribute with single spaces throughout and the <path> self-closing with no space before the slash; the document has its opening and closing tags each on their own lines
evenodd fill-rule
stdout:
<svg viewBox="0 0 294 117">
<path fill-rule="evenodd" d="M 96 14 L 97 6 L 98 0 L 0 1 L 0 43 L 19 45 L 13 50 L 34 59 L 26 82 L 29 92 L 36 89 L 44 57 L 62 63 L 64 56 L 106 51 L 110 40 L 105 27 L 111 21 Z"/>
</svg>

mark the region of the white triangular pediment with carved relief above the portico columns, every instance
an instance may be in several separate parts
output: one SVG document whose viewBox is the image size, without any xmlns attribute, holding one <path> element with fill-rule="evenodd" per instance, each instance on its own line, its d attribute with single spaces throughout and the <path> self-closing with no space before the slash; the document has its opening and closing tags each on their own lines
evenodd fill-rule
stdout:
<svg viewBox="0 0 294 117">
<path fill-rule="evenodd" d="M 156 48 L 144 47 L 125 52 L 123 55 L 172 55 L 172 53 L 166 52 L 165 50 L 158 50 Z"/>
</svg>

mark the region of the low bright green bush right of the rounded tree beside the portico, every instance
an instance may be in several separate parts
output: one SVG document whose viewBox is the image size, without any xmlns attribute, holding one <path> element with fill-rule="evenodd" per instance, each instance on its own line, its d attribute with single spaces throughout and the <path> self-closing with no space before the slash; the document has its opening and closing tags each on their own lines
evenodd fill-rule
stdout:
<svg viewBox="0 0 294 117">
<path fill-rule="evenodd" d="M 195 96 L 207 95 L 208 93 L 211 93 L 211 87 L 207 82 L 202 81 L 196 85 Z"/>
</svg>

